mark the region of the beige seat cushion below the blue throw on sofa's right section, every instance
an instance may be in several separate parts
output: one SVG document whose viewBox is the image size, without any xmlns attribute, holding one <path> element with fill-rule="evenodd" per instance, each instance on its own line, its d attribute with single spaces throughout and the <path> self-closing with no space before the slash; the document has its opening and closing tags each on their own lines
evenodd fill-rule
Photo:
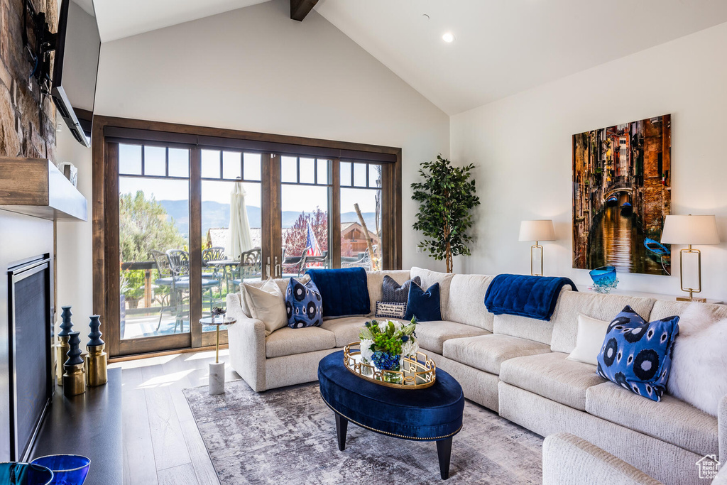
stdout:
<svg viewBox="0 0 727 485">
<path fill-rule="evenodd" d="M 418 334 L 419 329 L 417 329 Z M 541 342 L 510 335 L 486 334 L 480 337 L 447 340 L 444 342 L 442 355 L 460 364 L 499 374 L 502 363 L 510 358 L 549 352 L 550 347 Z"/>
</svg>

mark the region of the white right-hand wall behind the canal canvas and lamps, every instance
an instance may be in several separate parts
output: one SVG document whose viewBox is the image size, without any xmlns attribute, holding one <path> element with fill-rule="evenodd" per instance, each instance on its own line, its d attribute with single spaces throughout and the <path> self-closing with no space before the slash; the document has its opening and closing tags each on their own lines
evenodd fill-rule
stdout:
<svg viewBox="0 0 727 485">
<path fill-rule="evenodd" d="M 623 57 L 451 118 L 451 156 L 477 165 L 482 206 L 470 273 L 529 271 L 521 220 L 553 219 L 545 273 L 590 284 L 571 265 L 571 135 L 672 114 L 672 214 L 715 214 L 727 241 L 727 24 Z M 483 80 L 486 82 L 486 80 Z M 727 301 L 727 245 L 702 246 L 706 297 Z M 675 248 L 678 249 L 678 248 Z M 672 249 L 672 251 L 674 251 Z M 678 294 L 672 276 L 620 274 L 619 289 Z"/>
</svg>

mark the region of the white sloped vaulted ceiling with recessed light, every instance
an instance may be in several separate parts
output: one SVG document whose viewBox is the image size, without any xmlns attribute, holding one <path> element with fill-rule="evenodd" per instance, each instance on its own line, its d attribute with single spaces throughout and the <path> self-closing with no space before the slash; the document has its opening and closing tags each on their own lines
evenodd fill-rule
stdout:
<svg viewBox="0 0 727 485">
<path fill-rule="evenodd" d="M 262 1 L 94 3 L 110 41 Z M 725 0 L 319 0 L 315 9 L 450 115 L 727 22 Z"/>
</svg>

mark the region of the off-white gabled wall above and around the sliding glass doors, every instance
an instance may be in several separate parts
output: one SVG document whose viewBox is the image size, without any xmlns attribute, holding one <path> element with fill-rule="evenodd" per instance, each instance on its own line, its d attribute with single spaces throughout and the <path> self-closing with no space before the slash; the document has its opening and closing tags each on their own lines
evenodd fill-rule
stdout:
<svg viewBox="0 0 727 485">
<path fill-rule="evenodd" d="M 289 16 L 274 0 L 105 43 L 95 112 L 401 147 L 403 266 L 443 269 L 416 253 L 409 185 L 420 162 L 449 155 L 449 116 L 318 13 Z M 57 159 L 79 167 L 90 204 L 91 151 L 65 127 Z M 58 224 L 59 300 L 77 326 L 92 312 L 91 251 L 90 212 Z"/>
</svg>

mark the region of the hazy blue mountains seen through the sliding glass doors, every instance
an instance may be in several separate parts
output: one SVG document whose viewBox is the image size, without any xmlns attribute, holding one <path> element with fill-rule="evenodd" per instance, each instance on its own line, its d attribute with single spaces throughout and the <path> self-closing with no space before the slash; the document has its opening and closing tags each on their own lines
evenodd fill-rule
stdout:
<svg viewBox="0 0 727 485">
<path fill-rule="evenodd" d="M 189 233 L 189 205 L 188 201 L 158 201 L 159 204 L 166 209 L 166 213 L 174 219 L 174 225 L 182 234 Z M 289 228 L 297 220 L 300 212 L 283 211 L 283 227 Z M 374 212 L 364 212 L 366 225 L 374 230 L 376 227 L 376 217 Z M 250 221 L 251 228 L 260 228 L 261 216 L 260 207 L 247 206 L 247 218 Z M 344 212 L 341 220 L 348 223 L 358 222 L 356 212 Z M 203 201 L 202 202 L 202 233 L 206 234 L 209 228 L 226 228 L 230 225 L 230 204 L 220 204 L 220 202 Z"/>
</svg>

